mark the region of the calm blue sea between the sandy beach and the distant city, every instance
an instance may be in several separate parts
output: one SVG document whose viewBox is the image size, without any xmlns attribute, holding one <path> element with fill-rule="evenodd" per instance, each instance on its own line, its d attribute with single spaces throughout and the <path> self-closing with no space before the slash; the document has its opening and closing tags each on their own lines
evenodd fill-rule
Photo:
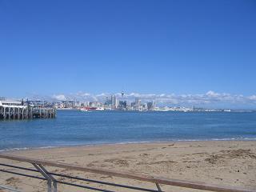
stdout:
<svg viewBox="0 0 256 192">
<path fill-rule="evenodd" d="M 58 110 L 55 119 L 0 122 L 0 150 L 214 139 L 256 139 L 256 113 Z"/>
</svg>

